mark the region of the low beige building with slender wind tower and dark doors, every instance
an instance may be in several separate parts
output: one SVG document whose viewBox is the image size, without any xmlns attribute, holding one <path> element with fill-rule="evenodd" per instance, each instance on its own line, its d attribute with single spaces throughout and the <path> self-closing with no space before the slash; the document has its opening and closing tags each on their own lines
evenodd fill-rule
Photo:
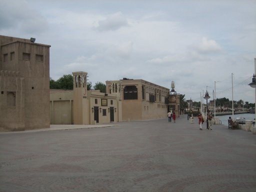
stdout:
<svg viewBox="0 0 256 192">
<path fill-rule="evenodd" d="M 50 89 L 51 124 L 95 124 L 121 121 L 114 93 L 87 90 L 87 72 L 73 74 L 73 90 Z"/>
</svg>

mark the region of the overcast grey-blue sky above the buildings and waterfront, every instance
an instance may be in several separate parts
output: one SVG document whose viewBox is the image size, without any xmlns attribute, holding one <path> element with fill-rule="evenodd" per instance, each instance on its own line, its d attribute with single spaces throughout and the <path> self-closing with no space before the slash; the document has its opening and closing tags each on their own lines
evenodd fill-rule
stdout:
<svg viewBox="0 0 256 192">
<path fill-rule="evenodd" d="M 144 79 L 255 102 L 256 0 L 0 0 L 0 34 L 49 44 L 50 77 Z"/>
</svg>

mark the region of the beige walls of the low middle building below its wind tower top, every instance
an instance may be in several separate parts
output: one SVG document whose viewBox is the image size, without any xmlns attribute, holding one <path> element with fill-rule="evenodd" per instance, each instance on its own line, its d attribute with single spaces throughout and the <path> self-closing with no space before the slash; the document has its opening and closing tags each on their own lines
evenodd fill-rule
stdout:
<svg viewBox="0 0 256 192">
<path fill-rule="evenodd" d="M 99 90 L 88 90 L 86 91 L 86 96 L 82 96 L 82 92 L 76 91 L 76 95 L 74 95 L 74 92 L 74 90 L 50 89 L 51 124 L 94 124 L 95 111 L 93 110 L 92 112 L 92 108 L 95 106 L 100 108 L 98 111 L 99 124 L 110 122 L 110 107 L 114 109 L 114 122 L 120 121 L 118 111 L 119 100 L 116 94 L 105 94 L 99 92 Z M 73 104 L 77 97 L 80 102 L 76 103 L 80 103 L 82 107 L 79 106 L 76 108 L 76 105 Z M 95 99 L 97 99 L 97 103 L 95 103 Z M 106 106 L 101 104 L 101 99 L 107 100 Z M 105 115 L 103 115 L 103 109 L 106 110 Z M 78 111 L 80 111 L 81 114 L 79 114 L 78 118 L 75 118 Z M 79 119 L 80 121 L 75 121 L 75 119 Z"/>
</svg>

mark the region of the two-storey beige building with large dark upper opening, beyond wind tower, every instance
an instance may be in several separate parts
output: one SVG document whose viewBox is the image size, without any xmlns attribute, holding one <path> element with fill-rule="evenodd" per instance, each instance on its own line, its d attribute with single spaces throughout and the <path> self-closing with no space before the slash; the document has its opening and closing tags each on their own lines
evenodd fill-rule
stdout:
<svg viewBox="0 0 256 192">
<path fill-rule="evenodd" d="M 107 80 L 106 92 L 121 101 L 122 120 L 166 117 L 169 89 L 143 79 Z"/>
</svg>

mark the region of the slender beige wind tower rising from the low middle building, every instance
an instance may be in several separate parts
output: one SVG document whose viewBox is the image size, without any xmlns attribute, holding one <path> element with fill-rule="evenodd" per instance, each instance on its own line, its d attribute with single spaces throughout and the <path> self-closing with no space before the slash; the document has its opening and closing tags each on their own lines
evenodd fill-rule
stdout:
<svg viewBox="0 0 256 192">
<path fill-rule="evenodd" d="M 86 124 L 89 121 L 89 107 L 87 99 L 87 72 L 72 72 L 74 96 L 74 124 Z"/>
</svg>

